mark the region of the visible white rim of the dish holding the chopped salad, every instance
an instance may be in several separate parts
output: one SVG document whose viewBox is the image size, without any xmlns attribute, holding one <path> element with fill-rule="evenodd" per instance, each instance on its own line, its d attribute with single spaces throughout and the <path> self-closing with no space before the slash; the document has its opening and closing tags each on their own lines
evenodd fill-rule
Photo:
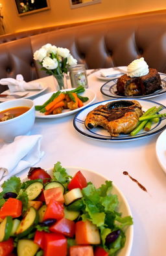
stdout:
<svg viewBox="0 0 166 256">
<path fill-rule="evenodd" d="M 89 182 L 93 182 L 93 184 L 95 185 L 96 188 L 99 188 L 99 186 L 101 186 L 101 184 L 103 184 L 106 180 L 108 180 L 108 178 L 103 177 L 102 175 L 100 175 L 99 173 L 95 173 L 95 171 L 91 171 L 89 169 L 85 169 L 82 167 L 65 167 L 67 173 L 71 176 L 74 176 L 75 173 L 77 173 L 77 171 L 81 171 L 82 174 L 86 177 L 86 180 Z M 52 171 L 53 169 L 46 169 L 46 171 L 52 175 Z M 23 175 L 22 177 L 20 177 L 22 180 L 27 179 L 27 177 L 25 177 L 25 175 Z M 121 192 L 121 190 L 119 190 L 119 188 L 117 188 L 117 186 L 115 186 L 115 184 L 113 183 L 113 188 L 112 188 L 112 193 L 115 193 L 118 198 L 119 198 L 119 212 L 122 212 L 122 216 L 132 216 L 132 212 L 130 210 L 130 206 L 128 205 L 128 202 L 125 198 L 125 195 L 123 195 L 123 193 Z M 126 235 L 126 243 L 125 243 L 125 247 L 122 248 L 119 253 L 117 253 L 118 256 L 129 256 L 130 255 L 130 251 L 132 249 L 132 240 L 133 240 L 133 231 L 134 231 L 134 227 L 133 225 L 129 226 L 126 229 L 125 235 Z"/>
</svg>

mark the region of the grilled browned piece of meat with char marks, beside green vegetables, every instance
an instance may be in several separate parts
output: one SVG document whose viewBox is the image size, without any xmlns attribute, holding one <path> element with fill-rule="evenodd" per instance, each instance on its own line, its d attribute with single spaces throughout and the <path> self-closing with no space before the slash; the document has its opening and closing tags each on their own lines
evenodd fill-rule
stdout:
<svg viewBox="0 0 166 256">
<path fill-rule="evenodd" d="M 136 100 L 119 100 L 100 105 L 90 111 L 86 117 L 85 125 L 92 129 L 102 126 L 110 132 L 112 137 L 119 134 L 129 134 L 137 126 L 139 117 L 143 115 L 141 105 Z"/>
</svg>

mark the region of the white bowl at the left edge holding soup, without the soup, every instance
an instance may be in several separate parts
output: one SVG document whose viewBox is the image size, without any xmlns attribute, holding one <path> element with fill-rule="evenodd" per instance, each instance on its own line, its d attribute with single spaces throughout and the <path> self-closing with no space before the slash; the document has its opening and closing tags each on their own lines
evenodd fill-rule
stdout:
<svg viewBox="0 0 166 256">
<path fill-rule="evenodd" d="M 3 102 L 0 104 L 0 111 L 12 107 L 30 107 L 30 109 L 18 117 L 0 122 L 0 139 L 6 142 L 12 142 L 16 136 L 30 132 L 35 121 L 34 102 L 32 100 L 22 98 Z"/>
</svg>

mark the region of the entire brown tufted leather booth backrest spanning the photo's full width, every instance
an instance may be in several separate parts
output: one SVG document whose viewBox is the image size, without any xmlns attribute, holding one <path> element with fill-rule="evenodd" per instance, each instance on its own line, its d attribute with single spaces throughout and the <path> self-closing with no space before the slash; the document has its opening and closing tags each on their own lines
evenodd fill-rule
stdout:
<svg viewBox="0 0 166 256">
<path fill-rule="evenodd" d="M 150 68 L 166 73 L 166 10 L 94 21 L 0 44 L 0 78 L 22 74 L 30 81 L 46 76 L 33 53 L 47 43 L 68 48 L 86 68 L 123 66 L 144 57 Z"/>
</svg>

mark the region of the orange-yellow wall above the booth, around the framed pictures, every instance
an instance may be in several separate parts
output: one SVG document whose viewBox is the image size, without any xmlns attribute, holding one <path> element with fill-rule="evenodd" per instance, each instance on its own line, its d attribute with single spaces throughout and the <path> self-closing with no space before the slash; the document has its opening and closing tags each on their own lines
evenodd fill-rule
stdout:
<svg viewBox="0 0 166 256">
<path fill-rule="evenodd" d="M 49 0 L 50 10 L 20 17 L 14 0 L 1 0 L 0 3 L 3 4 L 6 33 L 166 9 L 165 0 L 102 0 L 75 9 L 70 8 L 69 0 Z"/>
</svg>

